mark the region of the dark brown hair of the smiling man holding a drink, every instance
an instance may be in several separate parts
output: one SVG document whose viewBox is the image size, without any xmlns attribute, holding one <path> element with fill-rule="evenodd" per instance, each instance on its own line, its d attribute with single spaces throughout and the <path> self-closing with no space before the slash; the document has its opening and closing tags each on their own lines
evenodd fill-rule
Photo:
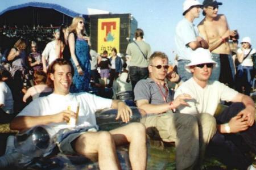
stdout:
<svg viewBox="0 0 256 170">
<path fill-rule="evenodd" d="M 53 61 L 51 63 L 51 65 L 49 65 L 48 67 L 48 70 L 47 70 L 47 81 L 46 81 L 46 84 L 47 86 L 51 87 L 51 88 L 54 88 L 53 87 L 53 81 L 51 80 L 50 78 L 50 74 L 54 74 L 55 73 L 55 66 L 56 65 L 59 65 L 59 66 L 64 66 L 64 65 L 69 65 L 71 67 L 71 74 L 72 76 L 74 75 L 74 67 L 72 66 L 72 63 L 66 59 L 63 59 L 63 58 L 57 58 L 55 59 L 55 61 Z"/>
</svg>

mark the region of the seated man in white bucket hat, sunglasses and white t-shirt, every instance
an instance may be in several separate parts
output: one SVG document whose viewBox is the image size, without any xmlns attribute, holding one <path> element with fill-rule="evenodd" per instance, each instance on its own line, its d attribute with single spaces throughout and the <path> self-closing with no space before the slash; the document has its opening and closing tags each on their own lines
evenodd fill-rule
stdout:
<svg viewBox="0 0 256 170">
<path fill-rule="evenodd" d="M 251 163 L 250 159 L 246 159 L 236 142 L 237 138 L 241 137 L 246 145 L 256 153 L 254 101 L 249 96 L 240 94 L 223 83 L 209 81 L 213 67 L 216 66 L 209 50 L 196 49 L 191 57 L 191 63 L 186 68 L 191 71 L 193 77 L 181 84 L 175 92 L 174 98 L 186 94 L 190 95 L 192 99 L 185 100 L 189 106 L 180 105 L 177 109 L 180 113 L 185 114 L 208 113 L 214 116 L 221 100 L 232 101 L 232 105 L 215 117 L 217 133 L 211 139 L 211 145 L 215 146 L 213 151 L 226 165 L 232 168 L 246 169 Z M 241 136 L 238 136 L 237 133 L 240 133 Z"/>
</svg>

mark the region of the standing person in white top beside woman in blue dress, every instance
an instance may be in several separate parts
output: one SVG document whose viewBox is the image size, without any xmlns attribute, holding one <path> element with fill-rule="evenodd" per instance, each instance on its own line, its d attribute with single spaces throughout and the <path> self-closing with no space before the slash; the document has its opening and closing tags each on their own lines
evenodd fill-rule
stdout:
<svg viewBox="0 0 256 170">
<path fill-rule="evenodd" d="M 43 70 L 44 72 L 47 71 L 47 67 L 57 58 L 56 52 L 55 52 L 55 46 L 56 46 L 56 40 L 60 37 L 60 30 L 55 29 L 53 32 L 54 40 L 51 42 L 48 42 L 46 45 L 46 48 L 44 48 L 44 51 L 42 53 L 42 63 L 43 63 Z"/>
</svg>

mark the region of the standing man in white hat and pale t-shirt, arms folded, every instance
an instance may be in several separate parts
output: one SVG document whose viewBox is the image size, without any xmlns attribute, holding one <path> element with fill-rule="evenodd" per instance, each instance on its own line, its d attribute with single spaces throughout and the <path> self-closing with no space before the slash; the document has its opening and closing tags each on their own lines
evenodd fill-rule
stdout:
<svg viewBox="0 0 256 170">
<path fill-rule="evenodd" d="M 184 18 L 176 26 L 177 72 L 183 81 L 188 80 L 192 76 L 184 68 L 190 62 L 191 52 L 199 47 L 208 48 L 207 42 L 199 35 L 197 27 L 193 24 L 193 21 L 199 18 L 201 6 L 201 3 L 197 0 L 185 0 L 183 3 Z"/>
</svg>

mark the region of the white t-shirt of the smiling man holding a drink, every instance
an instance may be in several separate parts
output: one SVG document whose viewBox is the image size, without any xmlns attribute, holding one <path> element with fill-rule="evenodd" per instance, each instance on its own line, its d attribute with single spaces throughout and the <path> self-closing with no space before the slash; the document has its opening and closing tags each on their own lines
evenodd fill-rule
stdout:
<svg viewBox="0 0 256 170">
<path fill-rule="evenodd" d="M 77 128 L 84 126 L 96 126 L 95 112 L 99 109 L 110 108 L 112 100 L 98 97 L 86 92 L 68 95 L 51 94 L 46 97 L 39 97 L 27 105 L 18 116 L 46 116 L 67 110 L 68 105 L 74 102 L 80 103 Z M 65 122 L 51 123 L 55 132 L 64 128 L 71 128 Z"/>
</svg>

